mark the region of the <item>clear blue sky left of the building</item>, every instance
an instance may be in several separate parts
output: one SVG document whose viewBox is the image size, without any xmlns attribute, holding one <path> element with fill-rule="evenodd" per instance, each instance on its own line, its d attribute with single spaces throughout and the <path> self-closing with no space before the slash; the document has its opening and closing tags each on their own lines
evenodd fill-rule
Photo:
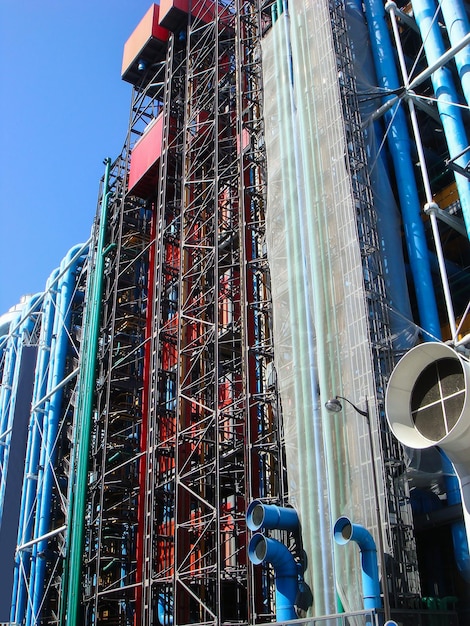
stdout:
<svg viewBox="0 0 470 626">
<path fill-rule="evenodd" d="M 150 0 L 0 0 L 0 315 L 90 235 L 124 144 L 125 41 Z"/>
</svg>

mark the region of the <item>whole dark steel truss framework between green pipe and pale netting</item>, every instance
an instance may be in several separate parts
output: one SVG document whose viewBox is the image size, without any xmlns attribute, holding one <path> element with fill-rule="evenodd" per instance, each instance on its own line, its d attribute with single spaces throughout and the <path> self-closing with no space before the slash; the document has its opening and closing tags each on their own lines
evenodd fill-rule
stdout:
<svg viewBox="0 0 470 626">
<path fill-rule="evenodd" d="M 255 600 L 271 573 L 252 575 L 245 526 L 253 497 L 285 491 L 263 240 L 268 19 L 254 2 L 188 16 L 134 89 L 103 190 L 86 623 L 272 615 Z M 126 189 L 127 155 L 159 116 L 158 183 L 142 201 Z"/>
</svg>

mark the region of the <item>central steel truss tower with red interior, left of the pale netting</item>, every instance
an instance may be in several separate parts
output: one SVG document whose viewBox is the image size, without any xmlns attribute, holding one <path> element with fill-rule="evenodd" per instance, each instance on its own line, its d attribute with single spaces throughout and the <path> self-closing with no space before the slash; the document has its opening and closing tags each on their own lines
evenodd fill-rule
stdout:
<svg viewBox="0 0 470 626">
<path fill-rule="evenodd" d="M 245 623 L 263 612 L 244 516 L 253 493 L 282 498 L 282 471 L 269 388 L 260 28 L 255 4 L 227 3 L 209 21 L 196 13 L 184 46 L 169 42 L 151 271 L 144 623 L 162 614 Z"/>
</svg>

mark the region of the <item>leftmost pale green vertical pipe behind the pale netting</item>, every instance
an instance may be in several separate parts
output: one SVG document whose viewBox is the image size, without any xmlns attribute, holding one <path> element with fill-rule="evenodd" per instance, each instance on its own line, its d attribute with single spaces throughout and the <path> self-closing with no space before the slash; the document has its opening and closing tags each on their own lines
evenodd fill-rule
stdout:
<svg viewBox="0 0 470 626">
<path fill-rule="evenodd" d="M 318 489 L 317 472 L 314 470 L 315 464 L 321 460 L 316 458 L 312 443 L 314 434 L 312 429 L 313 415 L 313 390 L 311 387 L 310 367 L 311 357 L 309 354 L 308 341 L 304 333 L 307 331 L 307 316 L 310 315 L 305 303 L 305 267 L 304 249 L 301 241 L 298 219 L 299 203 L 305 204 L 302 196 L 302 189 L 298 186 L 298 175 L 296 162 L 299 155 L 296 154 L 293 145 L 294 116 L 290 97 L 291 79 L 289 76 L 290 51 L 285 37 L 287 19 L 282 15 L 273 27 L 273 35 L 277 39 L 274 43 L 274 55 L 277 60 L 275 75 L 277 77 L 276 89 L 280 95 L 279 110 L 282 114 L 280 121 L 280 162 L 282 164 L 282 181 L 284 187 L 284 211 L 286 224 L 286 262 L 288 268 L 288 291 L 290 301 L 289 330 L 291 333 L 293 349 L 293 387 L 294 406 L 289 416 L 288 431 L 294 427 L 296 433 L 295 461 L 296 477 L 292 481 L 298 493 L 291 493 L 291 496 L 299 498 L 295 504 L 299 507 L 301 517 L 308 520 L 308 534 L 304 536 L 305 547 L 309 553 L 309 580 L 313 585 L 313 595 L 315 597 L 315 611 L 317 605 L 322 606 L 321 596 L 323 595 L 323 585 L 320 581 L 323 578 L 323 557 L 321 544 L 321 524 L 324 520 L 319 519 L 318 509 L 321 506 L 320 499 L 323 498 L 321 490 Z M 268 213 L 269 215 L 269 213 Z M 286 415 L 287 418 L 287 415 Z M 311 471 L 305 468 L 311 466 Z M 290 473 L 292 478 L 292 474 Z M 291 482 L 291 481 L 289 481 Z M 290 486 L 290 490 L 291 490 Z M 292 501 L 292 500 L 291 500 Z M 306 528 L 307 528 L 306 527 Z"/>
</svg>

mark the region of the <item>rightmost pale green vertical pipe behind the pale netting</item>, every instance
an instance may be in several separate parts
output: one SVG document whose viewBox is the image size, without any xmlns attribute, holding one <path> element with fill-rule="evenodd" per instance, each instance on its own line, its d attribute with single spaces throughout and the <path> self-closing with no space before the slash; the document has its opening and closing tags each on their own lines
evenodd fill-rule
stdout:
<svg viewBox="0 0 470 626">
<path fill-rule="evenodd" d="M 295 3 L 291 5 L 291 20 L 295 26 L 292 29 L 293 53 L 296 55 L 294 64 L 295 83 L 298 86 L 299 96 L 299 132 L 301 142 L 302 165 L 304 168 L 304 184 L 306 194 L 306 207 L 304 214 L 310 261 L 312 301 L 311 310 L 314 317 L 316 354 L 318 367 L 318 384 L 321 397 L 329 397 L 331 389 L 340 388 L 340 364 L 338 348 L 338 328 L 334 298 L 331 293 L 333 288 L 333 267 L 331 267 L 331 251 L 325 239 L 328 238 L 328 211 L 322 199 L 324 189 L 324 174 L 322 170 L 322 155 L 318 145 L 316 131 L 316 96 L 317 90 L 308 88 L 308 80 L 311 74 L 305 75 L 300 68 L 311 68 L 309 56 L 309 37 L 311 33 L 303 27 L 308 23 L 303 3 L 294 10 Z M 303 97 L 301 97 L 303 95 Z M 322 420 L 322 436 L 327 465 L 326 480 L 328 481 L 328 498 L 332 519 L 339 516 L 346 503 L 346 485 L 350 484 L 349 461 L 347 448 L 344 445 L 344 428 L 339 429 L 338 422 L 332 421 L 330 416 Z M 338 551 L 331 547 L 335 558 L 331 563 L 336 569 Z M 343 551 L 340 555 L 343 561 L 347 561 L 349 553 Z M 346 564 L 346 571 L 352 571 L 352 567 Z M 336 577 L 335 577 L 336 578 Z"/>
</svg>

